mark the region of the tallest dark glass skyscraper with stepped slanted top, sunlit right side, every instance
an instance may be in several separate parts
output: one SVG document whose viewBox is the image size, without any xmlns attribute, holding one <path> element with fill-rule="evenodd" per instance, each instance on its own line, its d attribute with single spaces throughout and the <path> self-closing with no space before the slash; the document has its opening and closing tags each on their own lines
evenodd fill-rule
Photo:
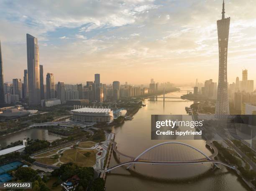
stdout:
<svg viewBox="0 0 256 191">
<path fill-rule="evenodd" d="M 37 38 L 27 34 L 28 60 L 28 103 L 31 106 L 41 104 L 39 76 L 39 48 Z"/>
</svg>

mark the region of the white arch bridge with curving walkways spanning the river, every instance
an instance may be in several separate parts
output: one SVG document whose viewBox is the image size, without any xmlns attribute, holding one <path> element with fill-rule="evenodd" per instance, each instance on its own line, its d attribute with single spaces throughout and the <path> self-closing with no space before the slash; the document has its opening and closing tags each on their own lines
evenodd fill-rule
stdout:
<svg viewBox="0 0 256 191">
<path fill-rule="evenodd" d="M 131 156 L 127 156 L 123 153 L 120 153 L 117 149 L 116 149 L 116 143 L 114 141 L 112 141 L 113 143 L 113 150 L 115 151 L 115 153 L 119 154 L 119 155 L 122 155 L 122 156 L 125 156 L 125 157 L 128 157 L 128 158 L 131 158 L 132 161 L 128 161 L 128 162 L 124 162 L 124 163 L 120 163 L 120 164 L 117 164 L 115 166 L 112 166 L 112 167 L 109 167 L 109 168 L 105 168 L 105 172 L 109 172 L 115 168 L 118 168 L 120 166 L 124 166 L 124 165 L 128 165 L 126 169 L 129 169 L 130 166 L 132 164 L 136 164 L 136 163 L 148 163 L 148 164 L 159 164 L 159 165 L 189 165 L 189 164 L 198 164 L 198 163 L 213 163 L 215 166 L 216 164 L 221 164 L 223 166 L 227 166 L 228 168 L 232 168 L 232 169 L 235 169 L 236 167 L 235 166 L 231 166 L 231 165 L 228 165 L 226 163 L 223 163 L 221 161 L 216 161 L 216 160 L 213 160 L 212 158 L 214 156 L 217 156 L 218 154 L 218 150 L 217 148 L 215 148 L 215 146 L 213 146 L 212 144 L 209 144 L 207 143 L 208 146 L 210 146 L 213 150 L 214 150 L 214 153 L 212 154 L 212 156 L 207 156 L 205 153 L 203 153 L 202 151 L 200 151 L 198 148 L 195 148 L 194 146 L 191 146 L 189 144 L 186 144 L 186 143 L 182 143 L 182 142 L 177 142 L 177 141 L 169 141 L 169 142 L 164 142 L 164 143 L 159 143 L 159 144 L 156 144 L 148 149 L 146 149 L 145 151 L 143 151 L 141 154 L 139 154 L 136 158 L 133 158 Z M 146 159 L 146 158 L 141 158 L 142 156 L 145 156 L 146 153 L 148 153 L 148 151 L 151 151 L 153 150 L 154 148 L 156 147 L 159 147 L 159 146 L 163 146 L 163 145 L 169 145 L 169 144 L 177 144 L 179 146 L 185 146 L 185 147 L 189 147 L 189 148 L 192 148 L 192 150 L 196 151 L 197 153 L 200 153 L 200 155 L 204 156 L 203 158 L 197 158 L 195 160 L 176 160 L 176 161 L 167 161 L 167 160 L 152 160 L 152 159 Z M 165 151 L 166 152 L 166 151 Z"/>
</svg>

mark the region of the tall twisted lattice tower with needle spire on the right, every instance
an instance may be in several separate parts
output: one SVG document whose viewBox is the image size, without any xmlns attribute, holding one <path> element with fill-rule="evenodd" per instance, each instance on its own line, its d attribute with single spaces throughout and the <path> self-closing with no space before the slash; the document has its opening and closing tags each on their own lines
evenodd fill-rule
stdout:
<svg viewBox="0 0 256 191">
<path fill-rule="evenodd" d="M 219 44 L 219 78 L 215 115 L 218 119 L 225 118 L 225 116 L 229 115 L 227 58 L 230 18 L 225 18 L 224 5 L 223 0 L 222 19 L 217 21 Z"/>
</svg>

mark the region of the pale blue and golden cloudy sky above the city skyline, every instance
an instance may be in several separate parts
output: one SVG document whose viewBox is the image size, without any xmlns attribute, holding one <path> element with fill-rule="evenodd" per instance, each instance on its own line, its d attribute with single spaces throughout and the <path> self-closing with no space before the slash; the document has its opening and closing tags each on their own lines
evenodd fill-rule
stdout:
<svg viewBox="0 0 256 191">
<path fill-rule="evenodd" d="M 225 0 L 230 17 L 228 82 L 256 81 L 256 1 Z M 0 0 L 6 82 L 23 79 L 26 33 L 57 83 L 218 81 L 222 0 Z"/>
</svg>

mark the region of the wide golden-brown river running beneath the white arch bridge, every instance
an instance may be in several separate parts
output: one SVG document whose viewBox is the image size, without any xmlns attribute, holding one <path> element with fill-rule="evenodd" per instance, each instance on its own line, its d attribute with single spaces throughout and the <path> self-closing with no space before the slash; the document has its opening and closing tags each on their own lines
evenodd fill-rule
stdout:
<svg viewBox="0 0 256 191">
<path fill-rule="evenodd" d="M 167 93 L 165 97 L 179 97 L 184 93 L 187 92 Z M 164 140 L 151 140 L 151 114 L 186 114 L 185 107 L 193 103 L 192 101 L 166 98 L 163 104 L 161 100 L 162 98 L 158 98 L 157 101 L 145 100 L 146 106 L 133 116 L 132 121 L 125 121 L 122 126 L 112 127 L 120 152 L 128 156 L 138 156 L 146 148 L 164 142 Z M 181 142 L 195 146 L 207 155 L 211 155 L 203 140 L 182 140 Z M 182 149 L 187 149 L 187 152 L 191 151 L 191 148 Z M 178 153 L 179 147 L 174 147 L 174 151 Z M 159 155 L 164 155 L 164 153 L 159 151 Z M 112 153 L 110 166 L 125 161 L 129 161 L 129 159 Z M 136 164 L 136 168 L 131 167 L 129 171 L 122 166 L 107 174 L 106 188 L 107 191 L 248 190 L 245 183 L 235 173 L 228 171 L 223 166 L 221 169 L 212 170 L 210 163 L 186 166 Z"/>
</svg>

